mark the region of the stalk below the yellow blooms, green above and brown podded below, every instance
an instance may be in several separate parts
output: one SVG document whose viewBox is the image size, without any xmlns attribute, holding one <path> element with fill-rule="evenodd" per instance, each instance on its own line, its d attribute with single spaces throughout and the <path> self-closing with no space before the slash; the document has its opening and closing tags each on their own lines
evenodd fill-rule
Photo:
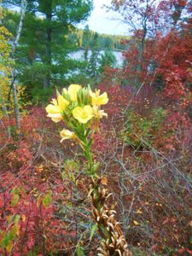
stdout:
<svg viewBox="0 0 192 256">
<path fill-rule="evenodd" d="M 96 176 L 96 165 L 91 152 L 91 140 L 89 141 L 87 137 L 84 140 L 84 157 L 87 160 L 87 174 L 92 177 L 89 194 L 93 207 L 93 219 L 97 224 L 99 234 L 102 236 L 98 251 L 103 256 L 131 256 L 125 236 L 114 218 L 116 212 L 107 205 L 110 196 L 108 189 L 103 188 L 102 177 Z"/>
</svg>

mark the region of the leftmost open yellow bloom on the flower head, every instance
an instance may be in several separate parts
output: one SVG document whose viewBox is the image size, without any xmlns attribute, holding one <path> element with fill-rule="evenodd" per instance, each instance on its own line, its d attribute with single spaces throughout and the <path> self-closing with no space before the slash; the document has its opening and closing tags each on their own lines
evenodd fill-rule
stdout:
<svg viewBox="0 0 192 256">
<path fill-rule="evenodd" d="M 48 113 L 48 117 L 51 118 L 55 123 L 61 121 L 62 113 L 67 108 L 69 102 L 64 99 L 61 95 L 57 96 L 57 100 L 53 99 L 52 104 L 49 104 L 45 109 Z"/>
</svg>

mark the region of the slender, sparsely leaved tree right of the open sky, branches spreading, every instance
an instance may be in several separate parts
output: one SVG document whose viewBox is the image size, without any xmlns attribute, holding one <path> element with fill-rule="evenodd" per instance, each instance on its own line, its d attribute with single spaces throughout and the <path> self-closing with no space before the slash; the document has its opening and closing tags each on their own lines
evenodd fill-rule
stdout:
<svg viewBox="0 0 192 256">
<path fill-rule="evenodd" d="M 113 0 L 108 7 L 120 14 L 132 33 L 127 40 L 123 74 L 135 92 L 147 81 L 148 75 L 153 77 L 156 38 L 177 26 L 188 3 L 185 0 Z"/>
</svg>

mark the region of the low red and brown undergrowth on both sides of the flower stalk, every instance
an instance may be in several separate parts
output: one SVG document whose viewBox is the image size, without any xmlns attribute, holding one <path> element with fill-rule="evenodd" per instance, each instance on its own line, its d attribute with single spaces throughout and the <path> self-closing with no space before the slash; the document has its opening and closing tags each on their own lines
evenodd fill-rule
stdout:
<svg viewBox="0 0 192 256">
<path fill-rule="evenodd" d="M 108 119 L 95 134 L 94 160 L 133 255 L 190 255 L 189 119 L 172 116 L 151 88 L 137 96 L 100 88 L 108 91 Z M 20 131 L 6 119 L 1 125 L 11 131 L 8 138 L 1 129 L 1 252 L 94 255 L 98 236 L 90 239 L 90 179 L 79 146 L 60 143 L 61 125 L 44 108 L 28 108 Z"/>
</svg>

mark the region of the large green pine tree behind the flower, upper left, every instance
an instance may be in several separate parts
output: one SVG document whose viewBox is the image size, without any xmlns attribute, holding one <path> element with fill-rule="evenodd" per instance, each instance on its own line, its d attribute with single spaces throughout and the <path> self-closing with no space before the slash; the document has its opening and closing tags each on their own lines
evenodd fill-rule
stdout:
<svg viewBox="0 0 192 256">
<path fill-rule="evenodd" d="M 20 1 L 5 0 L 4 5 L 18 5 Z M 27 6 L 24 30 L 21 34 L 18 59 L 22 56 L 20 80 L 34 88 L 34 84 L 48 89 L 61 84 L 67 73 L 67 54 L 71 45 L 67 33 L 72 25 L 90 15 L 92 0 L 57 1 L 33 0 Z"/>
</svg>

